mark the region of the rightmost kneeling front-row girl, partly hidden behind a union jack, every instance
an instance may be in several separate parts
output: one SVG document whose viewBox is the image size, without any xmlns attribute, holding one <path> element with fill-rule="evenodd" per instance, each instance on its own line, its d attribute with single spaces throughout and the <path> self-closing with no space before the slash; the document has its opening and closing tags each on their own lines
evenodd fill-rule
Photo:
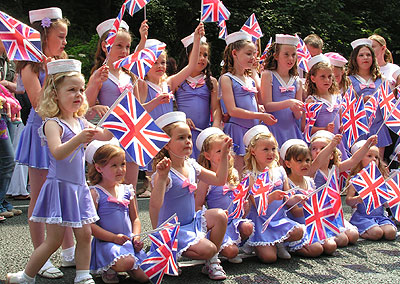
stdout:
<svg viewBox="0 0 400 284">
<path fill-rule="evenodd" d="M 353 147 L 360 147 L 361 144 L 368 144 L 368 140 L 359 141 Z M 354 151 L 353 148 L 352 151 Z M 376 146 L 372 146 L 362 160 L 351 170 L 351 176 L 355 176 L 371 162 L 375 162 L 382 175 L 387 178 L 387 171 L 379 158 L 379 150 Z M 373 241 L 381 238 L 386 240 L 394 240 L 396 238 L 396 226 L 385 215 L 383 206 L 373 210 L 370 214 L 366 214 L 364 202 L 352 184 L 350 184 L 347 192 L 346 204 L 356 208 L 353 211 L 350 223 L 357 227 L 362 238 Z"/>
</svg>

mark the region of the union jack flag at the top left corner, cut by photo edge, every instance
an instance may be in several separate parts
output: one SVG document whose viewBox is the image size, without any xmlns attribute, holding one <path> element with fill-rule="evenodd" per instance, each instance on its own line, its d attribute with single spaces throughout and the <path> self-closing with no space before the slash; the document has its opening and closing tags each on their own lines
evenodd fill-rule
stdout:
<svg viewBox="0 0 400 284">
<path fill-rule="evenodd" d="M 40 33 L 1 11 L 0 40 L 10 60 L 43 61 Z"/>
</svg>

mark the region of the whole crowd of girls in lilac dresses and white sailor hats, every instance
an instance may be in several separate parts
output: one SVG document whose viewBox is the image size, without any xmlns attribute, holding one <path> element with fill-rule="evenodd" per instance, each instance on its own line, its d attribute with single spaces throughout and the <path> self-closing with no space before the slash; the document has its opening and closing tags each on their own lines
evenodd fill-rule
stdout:
<svg viewBox="0 0 400 284">
<path fill-rule="evenodd" d="M 43 63 L 17 64 L 32 109 L 15 160 L 29 167 L 28 218 L 34 252 L 23 271 L 7 275 L 7 283 L 34 283 L 36 274 L 62 277 L 49 261 L 60 246 L 62 265 L 76 266 L 74 283 L 94 283 L 90 273 L 101 274 L 105 283 L 118 283 L 118 272 L 148 281 L 140 268 L 146 253 L 135 192 L 139 166 L 118 141 L 110 140 L 109 131 L 88 121 L 93 114 L 102 117 L 126 88 L 133 90 L 170 136 L 152 162 L 140 169 L 151 181 L 151 224 L 156 228 L 176 214 L 178 258 L 205 260 L 202 272 L 210 279 L 225 279 L 219 256 L 240 263 L 240 249 L 272 263 L 277 258 L 289 259 L 290 253 L 332 254 L 338 247 L 355 244 L 359 237 L 396 238 L 395 223 L 386 209 L 381 206 L 367 212 L 351 183 L 336 192 L 339 199 L 342 191 L 347 192 L 346 203 L 354 213 L 349 221 L 342 219 L 335 237 L 310 242 L 302 208 L 308 195 L 332 173 L 349 172 L 353 177 L 376 164 L 384 177 L 389 175 L 385 148 L 397 142 L 384 124 L 381 106 L 376 106 L 369 133 L 352 147 L 343 141 L 340 119 L 350 85 L 368 102 L 385 81 L 392 89 L 400 83 L 400 67 L 393 64 L 381 36 L 352 42 L 346 68 L 342 55 L 323 55 L 322 40 L 310 35 L 305 38 L 313 56 L 309 72 L 299 76 L 297 37 L 276 35 L 258 66 L 251 35 L 235 32 L 226 37 L 217 80 L 211 75 L 210 45 L 200 23 L 182 40 L 184 52 L 177 72 L 167 76 L 168 58 L 163 51 L 145 79 L 139 80 L 113 65 L 129 55 L 132 38 L 122 21 L 108 50 L 105 39 L 114 22 L 110 19 L 97 27 L 95 65 L 85 87 L 81 63 L 66 59 L 69 21 L 61 10 L 34 10 L 29 16 L 41 33 L 46 58 Z M 149 33 L 144 21 L 136 50 L 160 43 L 148 39 Z M 7 81 L 0 84 L 9 85 Z M 322 107 L 307 144 L 305 105 L 311 103 Z M 260 214 L 255 197 L 249 194 L 243 203 L 244 215 L 235 218 L 232 202 L 240 181 L 246 177 L 251 189 L 267 168 L 271 190 L 265 214 Z M 1 205 L 5 203 L 0 209 Z M 342 207 L 341 203 L 335 206 Z M 7 210 L 0 211 L 0 216 Z"/>
</svg>

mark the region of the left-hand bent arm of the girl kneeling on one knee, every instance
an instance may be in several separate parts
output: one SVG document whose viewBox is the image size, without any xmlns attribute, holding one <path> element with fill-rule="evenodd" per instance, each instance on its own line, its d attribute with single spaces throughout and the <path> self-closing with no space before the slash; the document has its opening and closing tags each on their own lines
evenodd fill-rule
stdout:
<svg viewBox="0 0 400 284">
<path fill-rule="evenodd" d="M 154 175 L 154 187 L 151 191 L 149 213 L 151 225 L 153 228 L 158 224 L 158 213 L 164 203 L 164 195 L 166 187 L 169 183 L 168 173 L 171 168 L 171 160 L 168 158 L 162 159 L 156 167 L 156 174 Z"/>
</svg>

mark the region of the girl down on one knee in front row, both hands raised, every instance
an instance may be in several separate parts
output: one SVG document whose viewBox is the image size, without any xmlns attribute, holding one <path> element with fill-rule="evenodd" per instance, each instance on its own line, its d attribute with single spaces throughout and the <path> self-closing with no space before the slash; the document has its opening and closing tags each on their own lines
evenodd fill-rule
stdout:
<svg viewBox="0 0 400 284">
<path fill-rule="evenodd" d="M 156 124 L 170 137 L 168 144 L 154 158 L 156 172 L 152 176 L 150 219 L 153 228 L 176 213 L 180 222 L 177 257 L 206 260 L 202 272 L 213 280 L 225 279 L 219 264 L 218 251 L 224 239 L 227 216 L 222 209 L 195 211 L 196 177 L 213 185 L 223 185 L 228 176 L 228 151 L 232 140 L 224 139 L 217 172 L 207 170 L 193 159 L 192 136 L 183 112 L 160 116 Z M 205 238 L 209 234 L 209 239 Z"/>
</svg>

